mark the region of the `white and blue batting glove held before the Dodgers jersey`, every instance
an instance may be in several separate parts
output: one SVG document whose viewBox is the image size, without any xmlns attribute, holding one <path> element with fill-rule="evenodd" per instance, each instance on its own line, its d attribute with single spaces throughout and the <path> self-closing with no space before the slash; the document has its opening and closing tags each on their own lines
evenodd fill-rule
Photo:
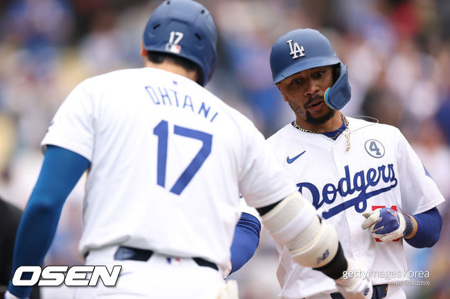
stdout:
<svg viewBox="0 0 450 299">
<path fill-rule="evenodd" d="M 363 213 L 366 220 L 361 229 L 368 229 L 373 238 L 382 242 L 392 241 L 409 235 L 413 231 L 413 221 L 409 215 L 389 208 L 376 209 Z"/>
</svg>

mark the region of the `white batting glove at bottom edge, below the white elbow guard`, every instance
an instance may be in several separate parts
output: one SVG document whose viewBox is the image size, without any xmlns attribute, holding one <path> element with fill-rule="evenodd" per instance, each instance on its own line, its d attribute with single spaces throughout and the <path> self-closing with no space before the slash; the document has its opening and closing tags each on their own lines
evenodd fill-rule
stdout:
<svg viewBox="0 0 450 299">
<path fill-rule="evenodd" d="M 372 298 L 372 282 L 369 280 L 368 271 L 352 259 L 347 259 L 348 270 L 344 275 L 334 280 L 339 293 L 345 299 L 370 299 Z"/>
</svg>

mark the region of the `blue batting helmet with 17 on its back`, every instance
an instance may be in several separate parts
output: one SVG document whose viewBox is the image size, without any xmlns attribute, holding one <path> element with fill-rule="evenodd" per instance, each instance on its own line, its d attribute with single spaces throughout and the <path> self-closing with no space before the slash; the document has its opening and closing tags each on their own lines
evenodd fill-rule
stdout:
<svg viewBox="0 0 450 299">
<path fill-rule="evenodd" d="M 161 3 L 150 16 L 143 35 L 147 51 L 186 58 L 199 66 L 205 86 L 213 75 L 217 30 L 210 12 L 192 0 Z"/>
</svg>

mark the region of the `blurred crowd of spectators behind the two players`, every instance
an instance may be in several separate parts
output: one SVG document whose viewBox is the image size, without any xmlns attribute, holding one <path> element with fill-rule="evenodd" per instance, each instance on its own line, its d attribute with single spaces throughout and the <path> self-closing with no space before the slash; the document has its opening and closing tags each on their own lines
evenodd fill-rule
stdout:
<svg viewBox="0 0 450 299">
<path fill-rule="evenodd" d="M 294 119 L 271 84 L 269 52 L 295 28 L 321 30 L 348 65 L 345 115 L 400 128 L 450 199 L 450 1 L 203 0 L 219 31 L 218 64 L 206 86 L 250 117 L 266 137 Z M 161 1 L 0 1 L 0 195 L 24 209 L 42 163 L 39 142 L 70 90 L 86 77 L 140 68 L 143 28 Z M 46 264 L 80 264 L 83 180 L 64 206 Z M 412 199 L 413 200 L 413 199 Z M 431 249 L 405 244 L 409 269 L 431 271 L 408 298 L 450 298 L 450 209 Z M 278 254 L 262 231 L 253 259 L 233 274 L 240 298 L 277 298 Z M 71 289 L 42 289 L 44 299 Z"/>
</svg>

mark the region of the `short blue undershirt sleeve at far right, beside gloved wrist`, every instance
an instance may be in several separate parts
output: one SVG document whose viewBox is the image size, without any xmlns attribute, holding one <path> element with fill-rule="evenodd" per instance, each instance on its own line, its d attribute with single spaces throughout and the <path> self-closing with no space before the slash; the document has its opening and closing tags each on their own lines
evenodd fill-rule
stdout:
<svg viewBox="0 0 450 299">
<path fill-rule="evenodd" d="M 417 221 L 417 233 L 411 239 L 404 239 L 415 248 L 432 247 L 440 238 L 442 217 L 436 207 L 424 213 L 414 215 Z"/>
</svg>

